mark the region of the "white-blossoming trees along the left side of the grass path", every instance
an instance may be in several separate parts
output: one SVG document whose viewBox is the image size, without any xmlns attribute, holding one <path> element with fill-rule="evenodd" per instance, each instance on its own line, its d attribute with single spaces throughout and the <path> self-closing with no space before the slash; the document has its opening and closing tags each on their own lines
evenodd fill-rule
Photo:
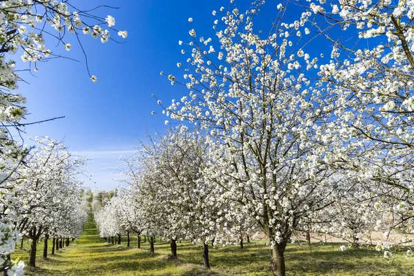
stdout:
<svg viewBox="0 0 414 276">
<path fill-rule="evenodd" d="M 68 34 L 81 50 L 83 34 L 102 43 L 114 32 L 126 38 L 127 32 L 115 30 L 114 25 L 113 17 L 101 17 L 96 8 L 76 8 L 70 1 L 0 1 L 0 272 L 23 273 L 23 262 L 10 259 L 21 237 L 32 239 L 28 264 L 34 266 L 40 237 L 46 244 L 48 237 L 77 237 L 87 214 L 75 177 L 83 161 L 70 157 L 52 139 L 37 141 L 40 146 L 34 150 L 15 139 L 23 133 L 21 120 L 27 113 L 25 97 L 14 92 L 21 80 L 19 72 L 36 72 L 40 63 L 61 57 L 59 49 L 71 48 Z M 56 51 L 48 49 L 47 39 L 57 43 Z M 17 68 L 14 55 L 20 55 L 27 68 Z M 96 82 L 88 64 L 86 69 Z"/>
</svg>

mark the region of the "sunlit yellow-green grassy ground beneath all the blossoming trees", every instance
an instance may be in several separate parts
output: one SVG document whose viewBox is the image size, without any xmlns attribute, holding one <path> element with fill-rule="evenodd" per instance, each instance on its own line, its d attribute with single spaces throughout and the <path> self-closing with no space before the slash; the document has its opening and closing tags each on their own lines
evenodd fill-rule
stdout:
<svg viewBox="0 0 414 276">
<path fill-rule="evenodd" d="M 28 244 L 24 247 L 29 248 Z M 244 249 L 210 248 L 211 270 L 201 268 L 200 246 L 178 244 L 178 261 L 167 259 L 169 244 L 164 241 L 157 239 L 155 255 L 148 253 L 148 242 L 142 243 L 141 249 L 136 247 L 136 237 L 129 248 L 126 237 L 121 245 L 106 243 L 97 235 L 90 217 L 83 235 L 55 256 L 43 259 L 43 244 L 39 243 L 39 268 L 26 268 L 26 275 L 270 275 L 268 247 L 261 242 L 246 244 Z M 17 250 L 12 257 L 27 256 Z M 341 252 L 339 244 L 295 244 L 286 249 L 286 268 L 288 275 L 414 275 L 414 259 L 405 259 L 402 254 L 384 259 L 373 248 Z"/>
</svg>

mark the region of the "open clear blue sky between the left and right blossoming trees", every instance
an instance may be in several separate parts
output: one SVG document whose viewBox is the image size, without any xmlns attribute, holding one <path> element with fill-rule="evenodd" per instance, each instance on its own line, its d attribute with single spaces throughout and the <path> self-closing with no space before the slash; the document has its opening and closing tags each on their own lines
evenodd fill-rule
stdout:
<svg viewBox="0 0 414 276">
<path fill-rule="evenodd" d="M 236 1 L 240 10 L 250 1 Z M 181 98 L 188 92 L 181 86 L 171 86 L 159 72 L 181 75 L 177 62 L 185 63 L 178 41 L 190 41 L 188 30 L 213 37 L 213 21 L 220 19 L 219 8 L 228 7 L 227 0 L 212 1 L 126 1 L 92 0 L 72 1 L 81 9 L 98 5 L 117 6 L 119 10 L 101 9 L 103 17 L 115 17 L 115 28 L 127 30 L 128 38 L 117 44 L 101 43 L 90 35 L 81 34 L 88 54 L 89 68 L 98 78 L 92 83 L 86 71 L 79 45 L 73 39 L 70 52 L 63 46 L 54 48 L 56 42 L 46 41 L 51 50 L 78 59 L 55 59 L 41 63 L 39 72 L 23 75 L 30 84 L 20 83 L 19 92 L 27 97 L 30 115 L 27 122 L 65 116 L 64 119 L 26 127 L 26 137 L 49 136 L 64 140 L 71 152 L 86 155 L 95 162 L 89 163 L 92 180 L 88 186 L 99 189 L 115 188 L 122 166 L 119 155 L 131 155 L 139 140 L 150 134 L 162 132 L 168 119 L 161 113 L 157 95 L 165 103 Z M 268 1 L 260 14 L 262 23 L 270 26 L 277 14 L 279 1 Z M 212 14 L 217 10 L 217 16 Z M 188 18 L 193 17 L 193 23 Z M 49 43 L 48 43 L 49 42 Z M 60 49 L 60 50 L 59 50 Z M 18 59 L 19 57 L 16 57 Z M 27 64 L 19 66 L 27 66 Z M 151 111 L 157 112 L 151 115 Z"/>
</svg>

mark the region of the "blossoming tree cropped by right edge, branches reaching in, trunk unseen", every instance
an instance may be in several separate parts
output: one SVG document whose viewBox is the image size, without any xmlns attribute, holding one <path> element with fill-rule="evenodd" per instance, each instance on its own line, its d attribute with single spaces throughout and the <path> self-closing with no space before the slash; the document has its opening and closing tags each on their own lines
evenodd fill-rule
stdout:
<svg viewBox="0 0 414 276">
<path fill-rule="evenodd" d="M 388 230 L 411 233 L 413 3 L 311 1 L 304 8 L 313 14 L 309 28 L 332 47 L 318 75 L 319 85 L 341 101 L 336 135 L 347 141 L 342 152 L 351 157 L 343 166 L 350 177 L 380 184 L 377 195 L 389 193 L 389 208 L 404 206 L 405 215 L 394 217 Z"/>
</svg>

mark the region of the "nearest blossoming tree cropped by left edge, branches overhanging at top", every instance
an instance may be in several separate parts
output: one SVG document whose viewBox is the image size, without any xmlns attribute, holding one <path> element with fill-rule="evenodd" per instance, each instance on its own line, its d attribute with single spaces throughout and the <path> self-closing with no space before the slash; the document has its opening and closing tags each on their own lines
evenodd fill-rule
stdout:
<svg viewBox="0 0 414 276">
<path fill-rule="evenodd" d="M 126 38 L 126 31 L 117 31 L 115 19 L 108 15 L 106 18 L 95 13 L 95 9 L 79 10 L 71 5 L 69 1 L 23 1 L 8 0 L 0 3 L 0 183 L 2 196 L 0 202 L 3 205 L 4 194 L 12 194 L 12 186 L 8 181 L 10 175 L 21 164 L 27 155 L 28 149 L 14 141 L 8 128 L 19 131 L 23 126 L 19 121 L 26 115 L 24 106 L 25 98 L 22 95 L 13 93 L 18 88 L 18 81 L 21 78 L 17 73 L 16 62 L 11 59 L 13 55 L 21 55 L 24 62 L 29 63 L 29 70 L 39 70 L 39 63 L 48 59 L 61 57 L 60 52 L 52 52 L 46 46 L 46 40 L 58 42 L 63 50 L 70 50 L 72 47 L 67 42 L 68 34 L 72 33 L 83 50 L 81 36 L 91 34 L 99 38 L 102 43 L 112 39 L 110 34 L 117 33 L 119 37 Z M 104 30 L 103 25 L 108 26 Z M 83 33 L 83 34 L 82 34 Z M 86 53 L 85 54 L 86 59 Z M 97 77 L 92 75 L 86 68 L 92 81 Z M 5 209 L 6 210 L 6 209 Z M 1 213 L 1 270 L 11 270 L 10 273 L 21 274 L 22 263 L 15 269 L 10 265 L 8 255 L 12 253 L 13 244 L 17 235 L 12 230 L 10 221 L 16 219 L 17 214 Z M 18 215 L 17 215 L 18 216 Z"/>
</svg>

